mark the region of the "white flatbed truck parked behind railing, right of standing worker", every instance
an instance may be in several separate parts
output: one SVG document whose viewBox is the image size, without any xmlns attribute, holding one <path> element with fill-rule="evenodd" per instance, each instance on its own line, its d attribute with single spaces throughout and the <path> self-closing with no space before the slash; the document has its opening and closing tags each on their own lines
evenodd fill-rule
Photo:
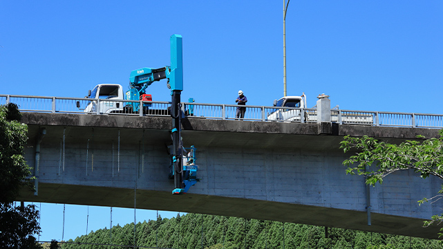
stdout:
<svg viewBox="0 0 443 249">
<path fill-rule="evenodd" d="M 274 100 L 274 109 L 267 116 L 267 120 L 283 120 L 285 122 L 298 121 L 301 122 L 302 117 L 304 122 L 317 122 L 316 107 L 308 109 L 306 104 L 306 95 L 301 96 L 286 96 L 279 100 Z M 285 109 L 283 107 L 290 107 Z M 303 114 L 302 114 L 303 112 Z M 339 122 L 338 106 L 331 109 L 331 121 Z M 341 122 L 348 124 L 374 124 L 374 116 L 372 113 L 364 112 L 344 112 L 341 113 Z"/>
</svg>

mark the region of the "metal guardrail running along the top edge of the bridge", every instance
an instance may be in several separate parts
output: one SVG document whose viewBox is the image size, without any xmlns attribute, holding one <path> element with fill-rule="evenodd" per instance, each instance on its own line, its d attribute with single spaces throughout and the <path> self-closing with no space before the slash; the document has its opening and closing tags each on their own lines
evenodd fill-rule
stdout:
<svg viewBox="0 0 443 249">
<path fill-rule="evenodd" d="M 169 116 L 171 102 L 108 100 L 91 98 L 0 95 L 0 104 L 13 102 L 23 112 L 77 113 L 124 116 Z M 141 107 L 133 111 L 132 106 Z M 237 117 L 236 104 L 181 103 L 189 118 L 249 120 L 261 122 L 317 122 L 317 109 L 291 107 L 242 106 L 245 116 Z M 331 120 L 338 124 L 361 124 L 384 127 L 443 128 L 442 114 L 394 113 L 386 111 L 331 110 Z"/>
</svg>

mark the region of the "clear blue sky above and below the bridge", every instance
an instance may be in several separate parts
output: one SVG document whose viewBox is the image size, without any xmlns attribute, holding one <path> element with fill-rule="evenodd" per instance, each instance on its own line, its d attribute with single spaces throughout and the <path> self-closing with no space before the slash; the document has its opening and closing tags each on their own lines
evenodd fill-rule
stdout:
<svg viewBox="0 0 443 249">
<path fill-rule="evenodd" d="M 443 113 L 442 24 L 440 0 L 292 0 L 288 95 L 305 92 L 308 107 L 326 93 L 341 109 Z M 0 0 L 0 94 L 84 97 L 95 84 L 126 86 L 132 70 L 170 65 L 173 34 L 183 37 L 182 100 L 235 104 L 241 89 L 248 104 L 271 106 L 283 96 L 283 1 Z M 147 92 L 170 100 L 164 81 Z M 44 239 L 61 239 L 46 235 L 46 209 Z"/>
</svg>

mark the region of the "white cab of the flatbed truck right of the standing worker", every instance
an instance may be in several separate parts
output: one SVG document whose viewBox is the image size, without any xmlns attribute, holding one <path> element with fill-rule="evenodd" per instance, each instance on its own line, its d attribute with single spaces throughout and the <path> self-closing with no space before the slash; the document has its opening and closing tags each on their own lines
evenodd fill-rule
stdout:
<svg viewBox="0 0 443 249">
<path fill-rule="evenodd" d="M 286 96 L 279 100 L 274 100 L 274 107 L 306 108 L 306 96 Z M 274 109 L 267 116 L 267 120 L 300 120 L 301 110 L 299 109 Z"/>
</svg>

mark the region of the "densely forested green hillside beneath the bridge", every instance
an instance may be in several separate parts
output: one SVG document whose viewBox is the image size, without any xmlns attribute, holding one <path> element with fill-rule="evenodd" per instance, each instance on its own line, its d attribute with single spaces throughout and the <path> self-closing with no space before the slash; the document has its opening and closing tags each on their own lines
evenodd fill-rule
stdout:
<svg viewBox="0 0 443 249">
<path fill-rule="evenodd" d="M 245 222 L 246 221 L 246 222 Z M 112 244 L 133 246 L 134 224 L 112 229 Z M 117 248 L 81 243 L 110 243 L 110 230 L 104 228 L 64 243 L 62 248 Z M 283 241 L 284 232 L 284 241 Z M 186 214 L 172 219 L 143 221 L 135 225 L 135 246 L 176 249 L 381 249 L 440 248 L 437 241 L 376 234 L 314 225 L 259 221 L 236 217 Z M 78 244 L 80 243 L 80 244 Z"/>
</svg>

